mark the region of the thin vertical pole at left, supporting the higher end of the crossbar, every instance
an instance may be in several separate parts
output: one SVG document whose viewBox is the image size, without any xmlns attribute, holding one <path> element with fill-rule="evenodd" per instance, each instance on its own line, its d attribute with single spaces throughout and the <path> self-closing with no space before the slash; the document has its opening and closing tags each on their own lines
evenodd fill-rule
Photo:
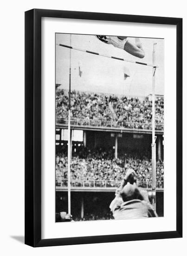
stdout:
<svg viewBox="0 0 187 256">
<path fill-rule="evenodd" d="M 71 45 L 71 34 L 70 34 Z M 71 49 L 70 49 L 70 74 L 69 74 L 69 109 L 68 109 L 68 214 L 71 214 Z"/>
</svg>

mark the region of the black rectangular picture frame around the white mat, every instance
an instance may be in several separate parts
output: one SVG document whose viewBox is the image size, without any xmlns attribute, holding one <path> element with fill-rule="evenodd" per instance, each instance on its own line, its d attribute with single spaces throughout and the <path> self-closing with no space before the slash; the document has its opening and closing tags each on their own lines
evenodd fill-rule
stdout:
<svg viewBox="0 0 187 256">
<path fill-rule="evenodd" d="M 108 20 L 177 27 L 176 230 L 41 239 L 41 18 Z M 182 237 L 182 19 L 113 13 L 32 9 L 25 13 L 25 243 L 33 247 Z"/>
</svg>

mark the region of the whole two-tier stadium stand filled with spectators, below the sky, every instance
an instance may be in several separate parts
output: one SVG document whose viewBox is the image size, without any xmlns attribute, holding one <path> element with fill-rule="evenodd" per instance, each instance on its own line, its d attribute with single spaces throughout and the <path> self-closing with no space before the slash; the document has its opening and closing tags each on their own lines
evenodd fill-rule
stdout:
<svg viewBox="0 0 187 256">
<path fill-rule="evenodd" d="M 56 89 L 56 212 L 68 211 L 68 91 Z M 157 213 L 163 216 L 164 100 L 155 100 Z M 137 185 L 152 189 L 152 101 L 124 95 L 71 91 L 71 214 L 74 221 L 112 219 L 109 205 L 128 168 Z M 117 141 L 117 144 L 115 144 Z M 104 148 L 105 147 L 105 148 Z M 116 149 L 117 148 L 117 149 Z M 160 151 L 159 151 L 160 149 Z M 117 152 L 117 154 L 116 154 Z M 159 154 L 160 152 L 160 154 Z"/>
</svg>

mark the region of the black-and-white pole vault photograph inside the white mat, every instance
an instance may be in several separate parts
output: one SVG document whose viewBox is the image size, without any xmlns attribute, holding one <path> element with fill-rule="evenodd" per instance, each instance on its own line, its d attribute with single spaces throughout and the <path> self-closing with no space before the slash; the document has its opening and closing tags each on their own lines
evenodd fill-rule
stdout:
<svg viewBox="0 0 187 256">
<path fill-rule="evenodd" d="M 164 216 L 164 38 L 55 34 L 56 222 Z"/>
</svg>

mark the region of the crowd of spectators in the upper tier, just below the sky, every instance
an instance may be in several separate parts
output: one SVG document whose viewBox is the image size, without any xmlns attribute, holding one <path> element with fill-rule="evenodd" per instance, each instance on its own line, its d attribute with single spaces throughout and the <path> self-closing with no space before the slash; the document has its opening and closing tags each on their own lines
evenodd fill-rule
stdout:
<svg viewBox="0 0 187 256">
<path fill-rule="evenodd" d="M 58 121 L 68 118 L 69 97 L 63 89 L 56 91 L 56 117 Z M 126 128 L 151 128 L 152 101 L 146 97 L 116 96 L 90 92 L 71 91 L 71 118 L 78 124 L 116 126 Z M 164 100 L 155 99 L 156 129 L 163 129 Z"/>
</svg>

